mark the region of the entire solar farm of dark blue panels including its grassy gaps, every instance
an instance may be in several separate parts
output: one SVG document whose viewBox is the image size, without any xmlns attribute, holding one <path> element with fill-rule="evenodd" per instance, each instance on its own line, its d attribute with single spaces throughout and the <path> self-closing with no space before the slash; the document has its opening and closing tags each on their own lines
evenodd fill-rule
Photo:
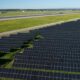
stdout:
<svg viewBox="0 0 80 80">
<path fill-rule="evenodd" d="M 2 37 L 0 80 L 80 80 L 80 20 Z"/>
</svg>

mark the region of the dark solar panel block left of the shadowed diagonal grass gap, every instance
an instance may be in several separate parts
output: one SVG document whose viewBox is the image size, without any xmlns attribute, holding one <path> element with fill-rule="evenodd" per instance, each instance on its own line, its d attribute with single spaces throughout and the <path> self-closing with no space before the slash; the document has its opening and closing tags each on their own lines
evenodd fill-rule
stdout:
<svg viewBox="0 0 80 80">
<path fill-rule="evenodd" d="M 20 48 L 23 42 L 33 39 L 35 34 L 20 33 L 17 35 L 11 35 L 10 37 L 3 37 L 0 39 L 0 50 L 9 52 L 12 48 Z"/>
</svg>

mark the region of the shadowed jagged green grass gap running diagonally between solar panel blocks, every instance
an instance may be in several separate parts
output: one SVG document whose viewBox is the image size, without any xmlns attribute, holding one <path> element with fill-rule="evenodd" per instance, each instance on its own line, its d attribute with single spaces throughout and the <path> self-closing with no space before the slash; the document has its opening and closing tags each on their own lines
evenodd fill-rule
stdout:
<svg viewBox="0 0 80 80">
<path fill-rule="evenodd" d="M 19 48 L 11 48 L 8 53 L 0 51 L 0 63 L 1 63 L 0 67 L 11 68 L 14 62 L 15 54 L 23 53 L 25 48 L 33 48 L 33 41 L 38 41 L 43 38 L 44 37 L 40 35 L 40 33 L 36 33 L 34 38 L 23 42 L 23 44 Z"/>
</svg>

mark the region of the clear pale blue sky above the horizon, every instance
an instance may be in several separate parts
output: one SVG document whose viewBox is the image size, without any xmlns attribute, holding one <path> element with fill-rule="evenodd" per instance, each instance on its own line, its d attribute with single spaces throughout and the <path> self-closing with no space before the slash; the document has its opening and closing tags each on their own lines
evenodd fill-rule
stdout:
<svg viewBox="0 0 80 80">
<path fill-rule="evenodd" d="M 0 0 L 0 9 L 80 8 L 80 0 Z"/>
</svg>

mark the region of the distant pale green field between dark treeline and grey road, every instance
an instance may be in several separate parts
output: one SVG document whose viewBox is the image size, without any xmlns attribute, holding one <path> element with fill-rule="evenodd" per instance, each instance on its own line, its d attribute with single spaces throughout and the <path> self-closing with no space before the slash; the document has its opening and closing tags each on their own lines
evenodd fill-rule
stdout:
<svg viewBox="0 0 80 80">
<path fill-rule="evenodd" d="M 37 11 L 0 11 L 0 17 L 6 17 L 6 16 L 31 16 L 31 15 L 41 15 L 41 14 L 65 14 L 65 13 L 79 13 L 80 11 L 72 11 L 72 10 L 37 10 Z"/>
</svg>

